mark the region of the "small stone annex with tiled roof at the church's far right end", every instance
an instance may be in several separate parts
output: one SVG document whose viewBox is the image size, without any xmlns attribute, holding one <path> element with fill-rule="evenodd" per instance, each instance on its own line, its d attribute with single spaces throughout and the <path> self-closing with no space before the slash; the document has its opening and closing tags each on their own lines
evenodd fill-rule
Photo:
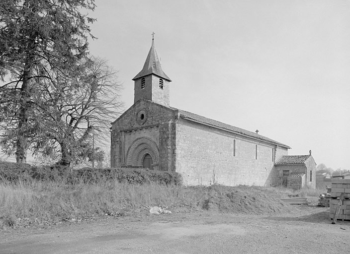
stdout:
<svg viewBox="0 0 350 254">
<path fill-rule="evenodd" d="M 284 155 L 276 163 L 278 182 L 288 188 L 316 188 L 316 162 L 310 155 Z"/>
</svg>

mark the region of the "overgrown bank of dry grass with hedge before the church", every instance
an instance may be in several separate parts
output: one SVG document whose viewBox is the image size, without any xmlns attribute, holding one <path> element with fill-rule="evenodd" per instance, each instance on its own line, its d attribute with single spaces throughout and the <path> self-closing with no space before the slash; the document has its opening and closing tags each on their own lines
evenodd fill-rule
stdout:
<svg viewBox="0 0 350 254">
<path fill-rule="evenodd" d="M 8 178 L 9 171 L 4 173 L 3 169 L 4 167 L 1 171 L 0 167 L 0 176 L 1 173 L 2 176 L 7 174 Z M 16 168 L 7 170 L 12 170 L 12 173 L 13 170 L 18 171 Z M 49 174 L 38 172 L 37 169 L 35 172 L 33 169 L 20 171 L 7 180 L 3 177 L 0 180 L 0 229 L 53 225 L 66 221 L 79 222 L 105 216 L 126 216 L 155 205 L 168 207 L 173 211 L 180 210 L 181 207 L 187 211 L 203 210 L 205 200 L 208 200 L 210 192 L 215 188 L 185 187 L 175 184 L 177 180 L 169 182 L 169 174 L 165 177 L 159 174 L 154 177 L 150 175 L 152 172 L 142 170 L 137 171 L 136 175 L 124 171 L 115 171 L 112 174 L 108 170 L 85 170 L 74 176 L 67 176 L 69 171 L 63 172 L 65 176 L 60 175 L 60 172 Z M 125 174 L 129 175 L 125 177 Z M 131 183 L 133 181 L 137 184 Z M 169 183 L 164 184 L 164 181 Z M 279 187 L 248 186 L 217 187 L 216 192 L 218 191 L 240 191 L 250 193 L 251 196 L 263 193 L 273 198 L 318 196 L 325 192 L 323 189 L 291 191 Z"/>
</svg>

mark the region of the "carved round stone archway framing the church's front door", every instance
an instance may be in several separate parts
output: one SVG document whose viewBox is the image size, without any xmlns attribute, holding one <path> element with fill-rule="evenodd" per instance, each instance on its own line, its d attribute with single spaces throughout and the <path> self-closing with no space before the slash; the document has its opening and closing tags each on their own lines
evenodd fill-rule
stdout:
<svg viewBox="0 0 350 254">
<path fill-rule="evenodd" d="M 159 149 L 155 142 L 147 137 L 137 138 L 126 153 L 126 165 L 143 166 L 143 159 L 149 154 L 153 160 L 153 168 L 159 169 Z"/>
</svg>

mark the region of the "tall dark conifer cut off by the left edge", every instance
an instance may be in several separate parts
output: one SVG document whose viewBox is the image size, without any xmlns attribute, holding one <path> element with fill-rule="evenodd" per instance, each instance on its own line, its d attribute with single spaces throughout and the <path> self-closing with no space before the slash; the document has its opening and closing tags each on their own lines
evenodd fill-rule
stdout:
<svg viewBox="0 0 350 254">
<path fill-rule="evenodd" d="M 0 1 L 1 146 L 19 163 L 37 138 L 38 94 L 79 73 L 88 55 L 94 19 L 82 10 L 94 8 L 93 0 Z"/>
</svg>

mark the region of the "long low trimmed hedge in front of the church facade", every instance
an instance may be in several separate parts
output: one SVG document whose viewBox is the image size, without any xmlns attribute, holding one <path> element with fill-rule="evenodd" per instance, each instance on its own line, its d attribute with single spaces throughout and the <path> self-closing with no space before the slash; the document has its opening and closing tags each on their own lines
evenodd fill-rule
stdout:
<svg viewBox="0 0 350 254">
<path fill-rule="evenodd" d="M 137 168 L 81 168 L 71 170 L 68 167 L 31 166 L 0 161 L 0 181 L 17 183 L 20 181 L 50 181 L 64 184 L 92 184 L 106 181 L 118 181 L 129 184 L 165 184 L 181 185 L 181 175 L 176 172 L 154 171 Z"/>
</svg>

